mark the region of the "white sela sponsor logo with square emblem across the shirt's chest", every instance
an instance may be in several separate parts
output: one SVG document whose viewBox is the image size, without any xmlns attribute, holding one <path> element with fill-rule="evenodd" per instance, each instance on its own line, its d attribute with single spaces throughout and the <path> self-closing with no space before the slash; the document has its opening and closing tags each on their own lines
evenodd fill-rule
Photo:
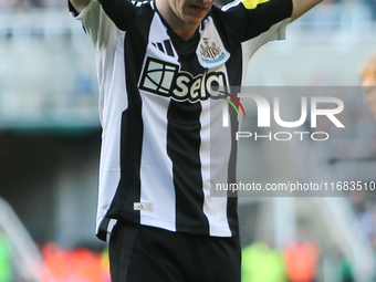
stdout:
<svg viewBox="0 0 376 282">
<path fill-rule="evenodd" d="M 227 86 L 222 72 L 205 72 L 194 77 L 180 71 L 179 65 L 154 58 L 147 58 L 138 85 L 142 91 L 189 102 L 218 96 L 219 86 Z"/>
</svg>

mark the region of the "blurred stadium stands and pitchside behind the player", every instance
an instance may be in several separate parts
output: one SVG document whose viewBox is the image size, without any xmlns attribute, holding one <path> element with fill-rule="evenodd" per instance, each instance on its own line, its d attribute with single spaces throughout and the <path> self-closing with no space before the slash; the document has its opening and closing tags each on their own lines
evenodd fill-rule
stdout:
<svg viewBox="0 0 376 282">
<path fill-rule="evenodd" d="M 376 1 L 326 0 L 286 35 L 255 54 L 250 85 L 357 87 Z M 346 134 L 323 122 L 325 146 L 243 142 L 239 178 L 376 180 L 376 122 L 362 94 L 343 101 Z M 94 56 L 66 3 L 0 0 L 0 282 L 109 281 L 94 237 L 100 139 Z M 244 281 L 376 281 L 373 196 L 241 197 Z"/>
</svg>

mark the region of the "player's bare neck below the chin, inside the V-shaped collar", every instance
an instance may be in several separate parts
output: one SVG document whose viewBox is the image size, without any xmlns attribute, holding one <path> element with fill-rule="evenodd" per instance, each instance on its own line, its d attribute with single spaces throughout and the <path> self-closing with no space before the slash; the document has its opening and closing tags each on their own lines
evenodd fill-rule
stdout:
<svg viewBox="0 0 376 282">
<path fill-rule="evenodd" d="M 194 36 L 196 30 L 199 27 L 199 23 L 190 24 L 185 22 L 173 11 L 170 6 L 168 4 L 168 1 L 155 0 L 155 3 L 160 15 L 176 34 L 178 34 L 184 40 L 188 40 Z"/>
</svg>

